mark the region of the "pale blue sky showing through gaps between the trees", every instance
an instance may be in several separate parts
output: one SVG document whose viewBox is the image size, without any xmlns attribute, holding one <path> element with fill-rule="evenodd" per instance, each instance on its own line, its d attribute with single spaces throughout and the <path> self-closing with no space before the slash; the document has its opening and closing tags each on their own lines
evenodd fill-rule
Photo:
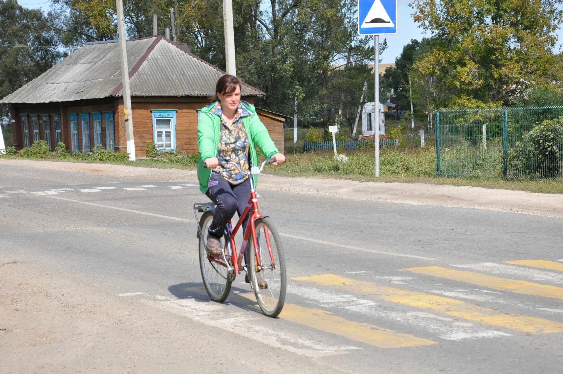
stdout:
<svg viewBox="0 0 563 374">
<path fill-rule="evenodd" d="M 411 39 L 421 40 L 426 36 L 422 29 L 417 27 L 414 23 L 411 14 L 413 13 L 412 8 L 409 7 L 411 0 L 397 0 L 397 33 L 393 35 L 381 35 L 379 37 L 380 41 L 387 39 L 388 48 L 381 55 L 382 63 L 394 63 L 395 59 L 403 51 L 403 46 L 408 44 Z M 43 8 L 43 10 L 48 10 L 49 0 L 19 0 L 21 6 L 28 8 Z M 558 6 L 563 9 L 563 5 Z M 558 41 L 555 50 L 558 51 L 563 43 L 563 30 L 559 29 L 557 32 Z"/>
</svg>

